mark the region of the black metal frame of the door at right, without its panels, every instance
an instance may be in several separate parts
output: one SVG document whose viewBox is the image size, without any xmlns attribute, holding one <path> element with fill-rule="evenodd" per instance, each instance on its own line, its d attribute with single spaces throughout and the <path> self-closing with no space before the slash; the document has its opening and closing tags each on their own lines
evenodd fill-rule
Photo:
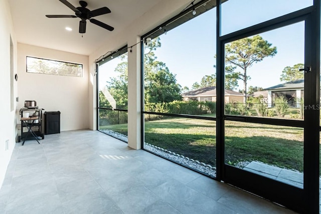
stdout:
<svg viewBox="0 0 321 214">
<path fill-rule="evenodd" d="M 262 196 L 298 212 L 319 212 L 319 83 L 320 83 L 320 1 L 300 11 L 228 34 L 220 35 L 220 0 L 217 1 L 217 179 Z M 305 22 L 304 121 L 289 121 L 224 113 L 224 45 L 245 37 Z M 220 57 L 221 56 L 221 57 Z M 313 106 L 313 107 L 312 107 Z M 225 164 L 225 120 L 237 120 L 304 128 L 303 189 Z"/>
</svg>

